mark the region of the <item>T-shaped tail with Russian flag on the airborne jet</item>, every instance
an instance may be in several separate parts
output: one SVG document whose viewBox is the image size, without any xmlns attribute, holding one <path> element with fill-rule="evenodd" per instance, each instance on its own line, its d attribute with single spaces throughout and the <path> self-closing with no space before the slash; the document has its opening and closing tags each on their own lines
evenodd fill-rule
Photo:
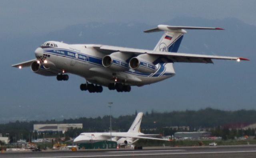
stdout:
<svg viewBox="0 0 256 158">
<path fill-rule="evenodd" d="M 164 35 L 160 38 L 154 50 L 161 52 L 178 52 L 183 34 L 186 34 L 184 29 L 224 30 L 222 28 L 158 25 L 157 28 L 146 30 L 144 32 L 164 31 Z"/>
</svg>

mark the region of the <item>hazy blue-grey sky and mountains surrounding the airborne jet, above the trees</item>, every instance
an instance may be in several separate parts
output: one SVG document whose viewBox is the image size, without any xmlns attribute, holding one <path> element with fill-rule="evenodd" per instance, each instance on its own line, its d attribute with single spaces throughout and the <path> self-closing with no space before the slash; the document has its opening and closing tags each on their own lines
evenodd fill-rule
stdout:
<svg viewBox="0 0 256 158">
<path fill-rule="evenodd" d="M 255 109 L 254 1 L 221 1 L 220 8 L 217 7 L 220 1 L 170 1 L 171 4 L 139 1 L 137 5 L 137 1 L 124 1 L 123 5 L 111 1 L 115 10 L 106 4 L 108 1 L 53 1 L 52 5 L 46 5 L 47 2 L 52 1 L 0 2 L 0 122 L 104 116 L 109 114 L 108 102 L 114 102 L 114 116 L 134 114 L 135 110 Z M 169 9 L 163 9 L 166 4 Z M 195 8 L 188 9 L 189 5 Z M 172 10 L 182 12 L 167 16 L 167 12 L 174 12 Z M 199 15 L 200 12 L 205 14 Z M 179 52 L 241 56 L 251 61 L 175 63 L 176 76 L 163 82 L 132 87 L 130 93 L 104 88 L 97 94 L 80 91 L 79 86 L 85 79 L 79 76 L 70 75 L 67 82 L 58 82 L 55 77 L 34 74 L 30 68 L 11 67 L 35 58 L 34 50 L 47 40 L 153 49 L 162 33 L 145 34 L 143 30 L 157 24 L 225 28 L 223 31 L 188 30 Z"/>
</svg>

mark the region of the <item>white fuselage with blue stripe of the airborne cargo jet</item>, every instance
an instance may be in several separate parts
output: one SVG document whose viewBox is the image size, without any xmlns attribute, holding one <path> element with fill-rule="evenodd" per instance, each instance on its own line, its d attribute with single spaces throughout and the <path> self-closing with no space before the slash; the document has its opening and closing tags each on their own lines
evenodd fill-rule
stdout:
<svg viewBox="0 0 256 158">
<path fill-rule="evenodd" d="M 35 52 L 38 59 L 40 59 L 40 56 L 50 55 L 50 57 L 46 58 L 48 65 L 44 63 L 44 66 L 50 68 L 45 70 L 56 73 L 64 71 L 65 73 L 76 74 L 94 84 L 108 86 L 109 83 L 114 82 L 115 78 L 118 78 L 131 86 L 143 86 L 175 75 L 172 63 L 157 64 L 157 70 L 154 73 L 142 73 L 132 69 L 116 72 L 102 65 L 102 58 L 106 54 L 93 48 L 95 45 L 65 44 L 55 41 L 54 43 L 58 47 L 43 48 L 43 54 L 46 55 Z"/>
</svg>

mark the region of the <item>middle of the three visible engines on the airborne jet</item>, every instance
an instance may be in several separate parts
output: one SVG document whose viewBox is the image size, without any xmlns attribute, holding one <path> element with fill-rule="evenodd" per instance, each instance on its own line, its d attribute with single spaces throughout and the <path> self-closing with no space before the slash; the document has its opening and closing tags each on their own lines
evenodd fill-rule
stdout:
<svg viewBox="0 0 256 158">
<path fill-rule="evenodd" d="M 128 63 L 126 62 L 128 58 L 130 58 L 129 54 L 114 52 L 102 58 L 102 65 L 115 71 L 126 71 L 129 70 Z"/>
</svg>

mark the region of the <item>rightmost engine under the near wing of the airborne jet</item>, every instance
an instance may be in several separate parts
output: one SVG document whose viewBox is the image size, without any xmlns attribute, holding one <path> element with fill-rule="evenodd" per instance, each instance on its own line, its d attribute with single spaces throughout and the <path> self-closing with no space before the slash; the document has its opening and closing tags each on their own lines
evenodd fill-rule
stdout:
<svg viewBox="0 0 256 158">
<path fill-rule="evenodd" d="M 149 58 L 145 59 L 148 56 Z M 131 58 L 129 66 L 133 70 L 137 70 L 144 73 L 154 73 L 156 72 L 156 66 L 152 63 L 152 60 L 148 54 L 142 54 Z"/>
</svg>

